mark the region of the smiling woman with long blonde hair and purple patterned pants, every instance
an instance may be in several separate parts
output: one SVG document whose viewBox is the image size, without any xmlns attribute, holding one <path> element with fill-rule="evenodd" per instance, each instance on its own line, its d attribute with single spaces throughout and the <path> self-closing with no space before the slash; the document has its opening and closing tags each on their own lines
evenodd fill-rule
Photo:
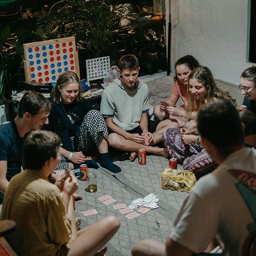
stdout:
<svg viewBox="0 0 256 256">
<path fill-rule="evenodd" d="M 196 68 L 189 75 L 187 104 L 181 113 L 188 122 L 182 129 L 169 128 L 163 133 L 170 156 L 183 163 L 184 169 L 196 172 L 197 178 L 211 171 L 215 166 L 201 145 L 196 128 L 197 113 L 203 106 L 216 99 L 226 99 L 236 104 L 229 93 L 217 88 L 209 68 Z"/>
</svg>

